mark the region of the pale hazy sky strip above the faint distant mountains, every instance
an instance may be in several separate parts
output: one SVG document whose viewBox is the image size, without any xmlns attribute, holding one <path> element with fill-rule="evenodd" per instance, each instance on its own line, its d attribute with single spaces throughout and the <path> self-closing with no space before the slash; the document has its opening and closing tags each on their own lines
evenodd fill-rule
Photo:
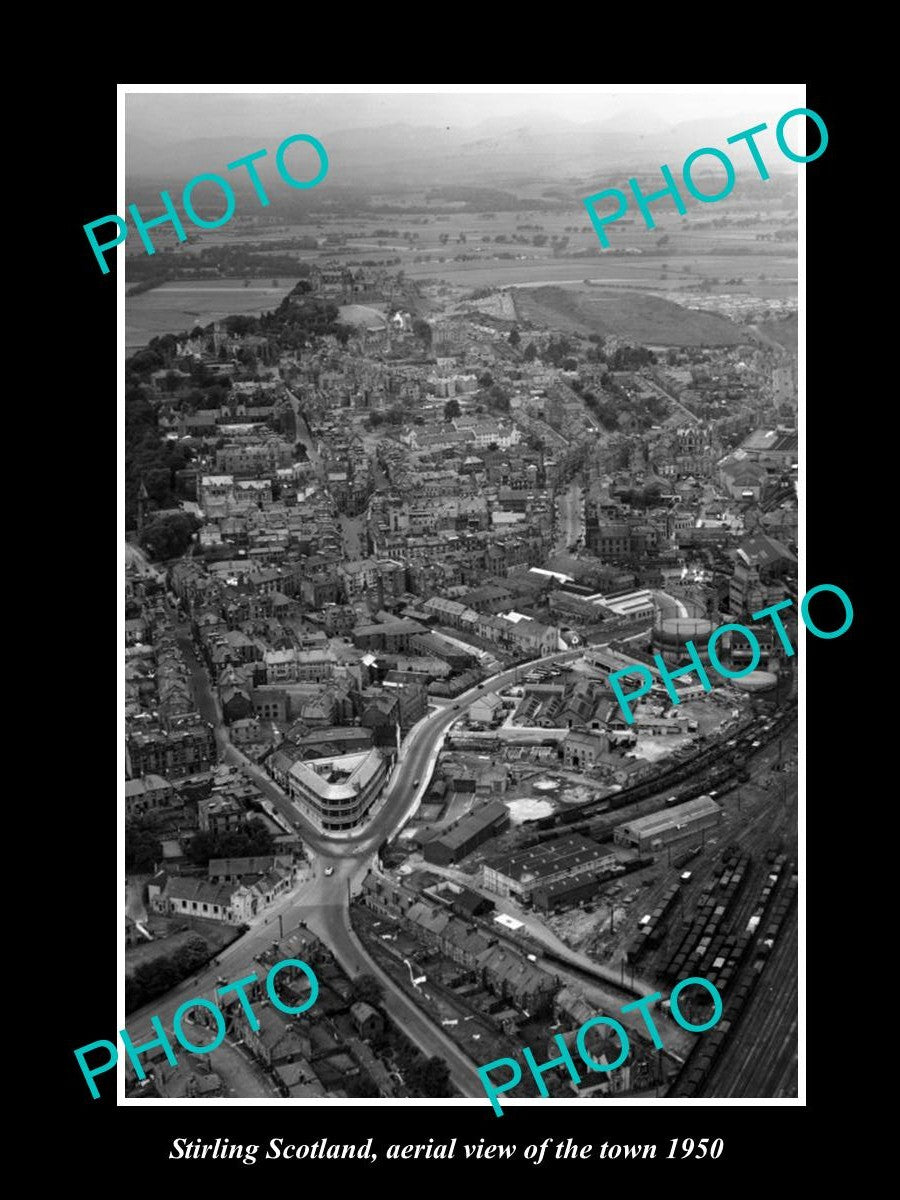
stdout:
<svg viewBox="0 0 900 1200">
<path fill-rule="evenodd" d="M 611 91 L 606 94 L 480 90 L 433 95 L 420 91 L 412 95 L 302 92 L 293 85 L 268 95 L 257 90 L 227 94 L 227 84 L 210 86 L 206 94 L 198 94 L 188 92 L 190 84 L 175 86 L 175 91 L 162 95 L 152 84 L 124 85 L 128 137 L 157 144 L 161 139 L 185 142 L 224 134 L 252 137 L 275 121 L 282 125 L 286 109 L 302 114 L 305 127 L 314 126 L 320 133 L 395 122 L 473 128 L 486 120 L 556 120 L 593 125 L 616 118 L 625 130 L 636 130 L 646 124 L 649 132 L 702 119 L 710 113 L 719 118 L 734 114 L 758 120 L 757 114 L 762 110 L 772 113 L 780 107 L 780 112 L 786 112 L 804 102 L 803 84 L 641 84 L 641 90 L 635 91 L 624 91 L 623 85 L 610 85 Z M 264 85 L 256 86 L 262 89 Z M 142 94 L 134 94 L 132 88 L 140 88 Z"/>
</svg>

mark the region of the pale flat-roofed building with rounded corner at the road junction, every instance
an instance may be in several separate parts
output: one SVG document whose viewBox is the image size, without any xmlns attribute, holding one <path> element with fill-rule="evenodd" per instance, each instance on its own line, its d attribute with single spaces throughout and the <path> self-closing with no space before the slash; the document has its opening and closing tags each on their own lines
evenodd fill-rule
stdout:
<svg viewBox="0 0 900 1200">
<path fill-rule="evenodd" d="M 378 750 L 295 762 L 287 784 L 292 800 L 322 833 L 360 824 L 384 787 L 388 761 Z"/>
</svg>

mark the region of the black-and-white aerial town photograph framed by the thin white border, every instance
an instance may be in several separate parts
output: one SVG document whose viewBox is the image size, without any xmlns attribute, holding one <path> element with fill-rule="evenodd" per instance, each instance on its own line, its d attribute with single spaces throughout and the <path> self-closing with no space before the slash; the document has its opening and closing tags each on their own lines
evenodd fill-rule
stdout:
<svg viewBox="0 0 900 1200">
<path fill-rule="evenodd" d="M 126 1100 L 798 1097 L 797 103 L 125 96 Z"/>
</svg>

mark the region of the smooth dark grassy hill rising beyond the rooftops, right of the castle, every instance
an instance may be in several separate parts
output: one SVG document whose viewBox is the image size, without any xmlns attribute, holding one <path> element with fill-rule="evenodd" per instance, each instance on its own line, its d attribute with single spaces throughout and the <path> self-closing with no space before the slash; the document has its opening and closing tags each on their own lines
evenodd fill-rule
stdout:
<svg viewBox="0 0 900 1200">
<path fill-rule="evenodd" d="M 752 342 L 739 325 L 662 296 L 612 288 L 520 288 L 520 320 L 578 334 L 616 334 L 644 346 L 737 346 Z"/>
</svg>

